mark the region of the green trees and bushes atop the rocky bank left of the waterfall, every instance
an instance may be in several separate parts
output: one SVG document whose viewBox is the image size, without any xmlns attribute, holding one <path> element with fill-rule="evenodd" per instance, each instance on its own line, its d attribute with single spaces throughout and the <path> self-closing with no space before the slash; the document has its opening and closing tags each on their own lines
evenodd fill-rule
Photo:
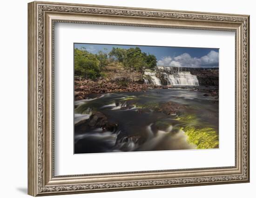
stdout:
<svg viewBox="0 0 256 198">
<path fill-rule="evenodd" d="M 107 50 L 105 49 L 105 51 Z M 141 52 L 139 47 L 129 49 L 113 47 L 109 53 L 98 51 L 95 54 L 88 52 L 83 47 L 74 49 L 74 74 L 76 76 L 93 80 L 105 77 L 105 68 L 113 65 L 136 71 L 154 69 L 156 57 Z"/>
</svg>

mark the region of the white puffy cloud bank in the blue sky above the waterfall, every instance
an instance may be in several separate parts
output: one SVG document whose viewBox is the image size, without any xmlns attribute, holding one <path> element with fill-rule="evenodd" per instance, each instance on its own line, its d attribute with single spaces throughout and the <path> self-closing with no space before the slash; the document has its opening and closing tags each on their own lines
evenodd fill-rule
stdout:
<svg viewBox="0 0 256 198">
<path fill-rule="evenodd" d="M 202 57 L 191 57 L 188 53 L 183 53 L 176 57 L 163 57 L 157 61 L 158 66 L 174 67 L 217 67 L 219 65 L 219 52 L 210 51 Z"/>
</svg>

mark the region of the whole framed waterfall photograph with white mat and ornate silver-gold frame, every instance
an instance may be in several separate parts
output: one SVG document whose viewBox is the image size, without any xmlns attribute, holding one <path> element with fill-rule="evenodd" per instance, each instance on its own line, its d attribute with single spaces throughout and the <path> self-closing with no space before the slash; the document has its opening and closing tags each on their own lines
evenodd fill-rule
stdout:
<svg viewBox="0 0 256 198">
<path fill-rule="evenodd" d="M 28 4 L 28 194 L 249 182 L 249 16 Z"/>
</svg>

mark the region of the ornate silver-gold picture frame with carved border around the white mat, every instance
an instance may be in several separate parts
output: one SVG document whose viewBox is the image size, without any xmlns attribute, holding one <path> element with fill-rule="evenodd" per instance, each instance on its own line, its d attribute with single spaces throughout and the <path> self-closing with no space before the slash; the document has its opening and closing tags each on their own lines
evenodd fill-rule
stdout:
<svg viewBox="0 0 256 198">
<path fill-rule="evenodd" d="M 54 23 L 232 31 L 236 34 L 235 166 L 54 175 Z M 52 2 L 28 4 L 28 194 L 249 182 L 249 16 Z"/>
</svg>

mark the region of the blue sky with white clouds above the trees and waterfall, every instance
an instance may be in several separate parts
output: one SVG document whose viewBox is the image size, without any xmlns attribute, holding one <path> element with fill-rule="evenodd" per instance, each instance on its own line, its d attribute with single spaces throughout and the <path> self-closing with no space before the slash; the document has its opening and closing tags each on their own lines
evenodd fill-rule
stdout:
<svg viewBox="0 0 256 198">
<path fill-rule="evenodd" d="M 98 51 L 109 52 L 113 47 L 124 49 L 139 47 L 142 52 L 155 55 L 158 66 L 174 67 L 219 67 L 219 49 L 195 47 L 169 47 L 169 46 L 142 46 L 142 45 L 105 45 L 105 44 L 79 44 L 74 48 L 85 47 L 91 53 Z"/>
</svg>

